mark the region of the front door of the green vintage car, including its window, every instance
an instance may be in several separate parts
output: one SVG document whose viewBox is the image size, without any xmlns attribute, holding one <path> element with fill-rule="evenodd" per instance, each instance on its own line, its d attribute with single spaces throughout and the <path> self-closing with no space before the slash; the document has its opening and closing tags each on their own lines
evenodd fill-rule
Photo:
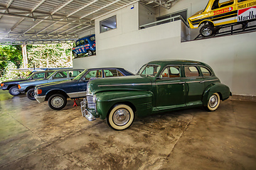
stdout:
<svg viewBox="0 0 256 170">
<path fill-rule="evenodd" d="M 156 107 L 159 110 L 185 106 L 184 81 L 181 66 L 168 66 L 156 79 Z"/>
</svg>

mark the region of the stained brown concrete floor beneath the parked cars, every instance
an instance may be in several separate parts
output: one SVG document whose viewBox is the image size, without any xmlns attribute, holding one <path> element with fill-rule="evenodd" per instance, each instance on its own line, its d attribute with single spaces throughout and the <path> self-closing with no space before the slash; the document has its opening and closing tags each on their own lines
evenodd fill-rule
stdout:
<svg viewBox="0 0 256 170">
<path fill-rule="evenodd" d="M 256 169 L 256 103 L 224 101 L 137 118 L 114 131 L 0 91 L 0 169 Z"/>
</svg>

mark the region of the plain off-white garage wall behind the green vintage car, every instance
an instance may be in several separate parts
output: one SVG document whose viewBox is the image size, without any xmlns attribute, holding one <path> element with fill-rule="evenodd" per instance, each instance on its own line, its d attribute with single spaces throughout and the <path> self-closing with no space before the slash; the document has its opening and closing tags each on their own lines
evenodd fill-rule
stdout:
<svg viewBox="0 0 256 170">
<path fill-rule="evenodd" d="M 151 60 L 198 60 L 213 67 L 233 94 L 256 95 L 255 32 L 181 42 L 187 30 L 181 21 L 139 30 L 138 11 L 135 4 L 95 21 L 97 55 L 75 59 L 73 67 L 124 67 L 136 73 Z M 117 29 L 100 33 L 100 21 L 114 15 Z"/>
</svg>

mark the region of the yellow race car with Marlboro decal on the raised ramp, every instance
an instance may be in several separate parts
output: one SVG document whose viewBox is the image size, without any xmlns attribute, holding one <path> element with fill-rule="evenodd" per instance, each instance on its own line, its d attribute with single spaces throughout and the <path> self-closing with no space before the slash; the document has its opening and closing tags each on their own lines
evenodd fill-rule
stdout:
<svg viewBox="0 0 256 170">
<path fill-rule="evenodd" d="M 216 26 L 245 22 L 256 18 L 255 0 L 209 0 L 206 8 L 188 18 L 191 28 L 200 29 L 201 35 L 213 35 Z"/>
</svg>

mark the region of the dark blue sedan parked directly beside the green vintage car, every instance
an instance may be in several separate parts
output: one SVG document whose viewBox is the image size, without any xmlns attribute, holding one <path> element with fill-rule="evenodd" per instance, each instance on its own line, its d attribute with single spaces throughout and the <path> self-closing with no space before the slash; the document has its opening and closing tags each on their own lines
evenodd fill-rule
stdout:
<svg viewBox="0 0 256 170">
<path fill-rule="evenodd" d="M 86 96 L 87 83 L 90 79 L 124 77 L 130 75 L 134 74 L 125 69 L 116 67 L 85 69 L 72 80 L 36 86 L 35 98 L 39 103 L 48 101 L 50 108 L 60 110 L 67 104 L 67 98 L 75 99 Z"/>
</svg>

